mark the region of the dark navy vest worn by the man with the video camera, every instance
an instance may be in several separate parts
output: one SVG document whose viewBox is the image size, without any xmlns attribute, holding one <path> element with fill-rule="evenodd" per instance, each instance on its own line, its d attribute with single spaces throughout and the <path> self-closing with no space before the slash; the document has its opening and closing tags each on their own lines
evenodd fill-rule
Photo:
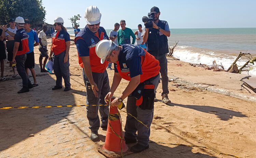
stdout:
<svg viewBox="0 0 256 158">
<path fill-rule="evenodd" d="M 157 26 L 165 29 L 166 21 L 159 20 Z M 169 53 L 167 36 L 158 29 L 149 29 L 147 38 L 147 49 L 152 55 Z"/>
</svg>

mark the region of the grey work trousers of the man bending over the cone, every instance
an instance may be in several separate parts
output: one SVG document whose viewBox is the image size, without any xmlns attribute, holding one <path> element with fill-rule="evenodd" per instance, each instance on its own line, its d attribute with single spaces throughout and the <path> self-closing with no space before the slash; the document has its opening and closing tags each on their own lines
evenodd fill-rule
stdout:
<svg viewBox="0 0 256 158">
<path fill-rule="evenodd" d="M 155 91 L 159 84 L 159 78 L 160 76 L 158 75 L 158 77 L 156 77 L 153 80 L 153 85 L 155 85 Z M 127 139 L 137 138 L 138 144 L 147 146 L 149 137 L 150 137 L 150 126 L 153 120 L 154 108 L 151 110 L 148 110 L 148 109 L 142 110 L 139 106 L 136 106 L 136 99 L 131 95 L 129 95 L 127 99 L 126 110 L 132 116 L 136 117 L 137 120 L 147 125 L 148 128 L 145 127 L 140 122 L 138 122 L 137 120 L 135 120 L 130 115 L 127 115 L 126 124 L 125 124 L 125 138 Z M 137 131 L 138 131 L 138 136 L 136 135 Z"/>
</svg>

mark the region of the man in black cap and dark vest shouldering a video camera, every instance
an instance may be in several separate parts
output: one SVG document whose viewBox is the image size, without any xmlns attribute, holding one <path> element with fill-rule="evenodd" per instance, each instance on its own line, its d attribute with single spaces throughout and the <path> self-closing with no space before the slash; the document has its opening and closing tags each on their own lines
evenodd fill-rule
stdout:
<svg viewBox="0 0 256 158">
<path fill-rule="evenodd" d="M 168 76 L 167 76 L 167 59 L 166 53 L 169 53 L 168 39 L 171 32 L 167 21 L 159 20 L 159 8 L 154 6 L 151 8 L 148 16 L 153 18 L 153 28 L 144 28 L 141 36 L 143 42 L 147 42 L 147 51 L 152 54 L 160 63 L 160 73 L 162 77 L 162 102 L 171 103 L 168 98 Z M 151 22 L 151 21 L 150 21 Z"/>
</svg>

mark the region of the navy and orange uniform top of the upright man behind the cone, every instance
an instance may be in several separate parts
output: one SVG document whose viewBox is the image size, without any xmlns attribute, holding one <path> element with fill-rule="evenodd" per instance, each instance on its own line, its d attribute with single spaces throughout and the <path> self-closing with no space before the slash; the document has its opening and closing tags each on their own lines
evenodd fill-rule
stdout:
<svg viewBox="0 0 256 158">
<path fill-rule="evenodd" d="M 106 67 L 108 67 L 108 62 L 105 61 L 103 64 L 101 64 L 101 59 L 97 56 L 95 49 L 97 43 L 103 39 L 107 39 L 107 36 L 105 34 L 105 30 L 102 27 L 99 28 L 98 33 L 100 38 L 97 37 L 93 32 L 89 31 L 86 26 L 83 30 L 77 33 L 74 42 L 76 43 L 78 39 L 83 39 L 85 41 L 86 45 L 89 48 L 91 72 L 103 73 L 106 70 Z M 79 57 L 79 55 L 78 63 L 82 68 L 84 68 L 82 58 Z"/>
</svg>

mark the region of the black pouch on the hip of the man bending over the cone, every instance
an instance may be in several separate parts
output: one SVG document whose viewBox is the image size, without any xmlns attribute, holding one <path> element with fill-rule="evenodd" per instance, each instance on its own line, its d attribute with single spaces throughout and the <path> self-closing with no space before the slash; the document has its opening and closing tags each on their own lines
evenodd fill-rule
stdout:
<svg viewBox="0 0 256 158">
<path fill-rule="evenodd" d="M 152 77 L 138 85 L 138 87 L 132 92 L 131 96 L 136 98 L 136 106 L 139 106 L 142 110 L 151 110 L 154 108 L 155 100 L 155 85 L 153 80 L 157 77 Z"/>
</svg>

